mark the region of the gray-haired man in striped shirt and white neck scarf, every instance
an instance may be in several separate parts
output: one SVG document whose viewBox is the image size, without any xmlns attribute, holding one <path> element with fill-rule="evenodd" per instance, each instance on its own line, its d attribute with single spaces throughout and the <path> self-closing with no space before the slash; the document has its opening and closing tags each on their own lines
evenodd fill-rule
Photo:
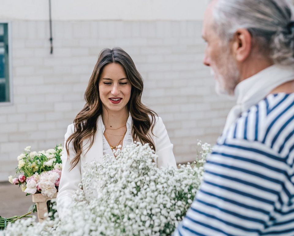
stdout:
<svg viewBox="0 0 294 236">
<path fill-rule="evenodd" d="M 217 91 L 237 105 L 174 235 L 294 235 L 293 3 L 214 0 L 202 34 Z"/>
</svg>

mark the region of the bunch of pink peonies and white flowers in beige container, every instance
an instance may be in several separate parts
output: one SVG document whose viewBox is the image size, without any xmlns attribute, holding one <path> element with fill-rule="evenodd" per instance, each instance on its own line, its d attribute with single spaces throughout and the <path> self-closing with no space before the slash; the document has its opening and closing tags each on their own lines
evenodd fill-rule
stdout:
<svg viewBox="0 0 294 236">
<path fill-rule="evenodd" d="M 17 178 L 8 177 L 10 183 L 19 185 L 27 195 L 42 193 L 43 196 L 52 197 L 57 192 L 61 177 L 62 147 L 56 145 L 47 151 L 31 151 L 31 146 L 17 157 Z"/>
</svg>

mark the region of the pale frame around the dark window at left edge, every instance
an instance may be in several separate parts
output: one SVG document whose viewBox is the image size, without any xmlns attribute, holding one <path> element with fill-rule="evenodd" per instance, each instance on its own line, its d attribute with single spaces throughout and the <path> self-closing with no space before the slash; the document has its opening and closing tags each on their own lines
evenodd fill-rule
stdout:
<svg viewBox="0 0 294 236">
<path fill-rule="evenodd" d="M 13 74 L 12 74 L 12 30 L 11 30 L 11 21 L 0 20 L 0 24 L 7 24 L 8 31 L 8 71 L 9 71 L 9 101 L 0 102 L 0 107 L 2 106 L 11 106 L 13 105 Z"/>
</svg>

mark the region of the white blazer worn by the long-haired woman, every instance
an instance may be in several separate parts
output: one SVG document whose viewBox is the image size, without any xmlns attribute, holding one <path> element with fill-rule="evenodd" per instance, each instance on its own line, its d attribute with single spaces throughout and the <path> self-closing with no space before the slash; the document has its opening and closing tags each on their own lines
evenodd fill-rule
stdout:
<svg viewBox="0 0 294 236">
<path fill-rule="evenodd" d="M 72 142 L 69 145 L 69 156 L 67 155 L 66 149 L 64 147 L 63 155 L 61 156 L 62 173 L 56 198 L 57 211 L 61 219 L 63 218 L 63 216 L 66 215 L 65 210 L 70 204 L 73 194 L 79 189 L 78 185 L 82 182 L 82 176 L 83 173 L 85 173 L 86 163 L 90 163 L 92 160 L 96 160 L 98 162 L 102 162 L 103 160 L 103 134 L 102 127 L 100 127 L 101 125 L 99 124 L 100 123 L 97 122 L 97 126 L 99 127 L 97 127 L 92 147 L 89 149 L 88 152 L 86 152 L 88 150 L 87 143 L 89 142 L 89 140 L 86 140 L 86 145 L 83 145 L 84 148 L 81 153 L 80 161 L 71 171 L 69 171 L 70 162 L 75 156 Z M 74 124 L 70 124 L 67 127 L 66 134 L 64 135 L 64 143 L 66 143 L 66 140 L 73 132 Z M 156 160 L 157 166 L 173 166 L 176 168 L 175 157 L 172 151 L 173 145 L 170 142 L 168 132 L 166 131 L 166 128 L 160 117 L 156 117 L 153 134 L 150 130 L 149 135 L 153 139 L 156 148 L 156 155 L 158 155 L 158 158 Z M 86 192 L 85 194 L 87 195 Z"/>
</svg>

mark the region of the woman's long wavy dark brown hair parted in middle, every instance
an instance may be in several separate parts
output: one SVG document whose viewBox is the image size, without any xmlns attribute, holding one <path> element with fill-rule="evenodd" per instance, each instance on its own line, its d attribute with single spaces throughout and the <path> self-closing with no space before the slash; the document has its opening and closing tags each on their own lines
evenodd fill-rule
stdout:
<svg viewBox="0 0 294 236">
<path fill-rule="evenodd" d="M 74 119 L 74 133 L 66 140 L 67 155 L 69 156 L 70 142 L 72 142 L 73 149 L 76 153 L 76 156 L 70 162 L 70 169 L 74 168 L 81 158 L 83 141 L 85 139 L 91 140 L 88 150 L 93 145 L 97 131 L 97 119 L 102 114 L 102 102 L 99 97 L 98 83 L 104 66 L 109 63 L 119 63 L 124 68 L 132 86 L 127 107 L 133 119 L 133 139 L 141 143 L 149 143 L 153 150 L 155 150 L 153 139 L 148 134 L 148 131 L 150 128 L 151 132 L 153 131 L 155 115 L 157 116 L 157 114 L 141 102 L 143 79 L 136 69 L 133 60 L 123 49 L 105 48 L 99 54 L 85 91 L 84 99 L 86 104 Z M 151 119 L 149 116 L 151 116 Z"/>
</svg>

